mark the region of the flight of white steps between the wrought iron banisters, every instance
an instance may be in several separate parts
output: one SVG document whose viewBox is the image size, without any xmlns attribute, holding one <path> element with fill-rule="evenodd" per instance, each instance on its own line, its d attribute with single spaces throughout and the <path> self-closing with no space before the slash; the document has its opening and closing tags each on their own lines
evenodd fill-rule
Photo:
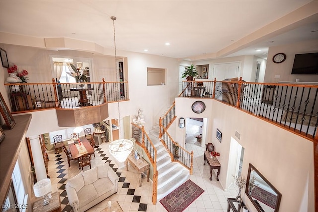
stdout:
<svg viewBox="0 0 318 212">
<path fill-rule="evenodd" d="M 159 123 L 148 133 L 157 150 L 157 200 L 170 194 L 173 190 L 183 184 L 189 177 L 189 170 L 177 162 L 171 162 L 170 154 L 159 140 Z"/>
</svg>

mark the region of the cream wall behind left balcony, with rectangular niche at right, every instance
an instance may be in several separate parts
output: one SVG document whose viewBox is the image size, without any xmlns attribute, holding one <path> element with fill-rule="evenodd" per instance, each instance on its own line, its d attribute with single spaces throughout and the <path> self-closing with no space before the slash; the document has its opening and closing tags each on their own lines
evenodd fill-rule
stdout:
<svg viewBox="0 0 318 212">
<path fill-rule="evenodd" d="M 29 72 L 29 83 L 52 82 L 54 76 L 52 76 L 49 58 L 49 55 L 52 54 L 92 58 L 92 73 L 95 81 L 101 82 L 102 78 L 105 78 L 106 81 L 115 81 L 116 79 L 114 69 L 115 58 L 113 56 L 96 55 L 73 50 L 52 51 L 10 44 L 1 44 L 1 48 L 7 51 L 10 65 L 16 64 L 20 70 L 26 69 Z M 160 115 L 172 104 L 178 94 L 179 62 L 173 58 L 133 52 L 118 51 L 118 54 L 121 54 L 121 57 L 127 57 L 128 76 L 125 76 L 125 79 L 129 78 L 130 99 L 127 102 L 120 102 L 120 115 L 121 117 L 133 116 L 137 113 L 138 108 L 142 108 L 146 122 L 145 129 L 149 131 L 156 122 L 159 122 Z M 166 85 L 147 86 L 147 67 L 166 69 Z M 7 88 L 3 86 L 8 73 L 6 68 L 1 67 L 1 69 L 1 93 L 10 108 L 10 102 L 6 94 Z M 50 120 L 50 123 L 39 127 L 39 123 L 43 122 L 41 117 L 46 117 L 46 120 Z M 118 118 L 117 103 L 109 104 L 109 117 L 110 119 Z M 38 135 L 59 129 L 61 127 L 57 126 L 54 109 L 34 112 L 27 135 Z"/>
</svg>

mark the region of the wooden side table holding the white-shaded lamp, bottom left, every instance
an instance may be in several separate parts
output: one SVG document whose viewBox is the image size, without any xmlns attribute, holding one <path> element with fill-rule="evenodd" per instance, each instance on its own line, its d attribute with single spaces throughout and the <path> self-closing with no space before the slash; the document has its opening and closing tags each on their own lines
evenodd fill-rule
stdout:
<svg viewBox="0 0 318 212">
<path fill-rule="evenodd" d="M 52 198 L 50 198 L 50 203 L 43 206 L 43 198 L 41 200 L 35 201 L 33 203 L 32 212 L 61 212 L 61 200 L 60 193 L 52 193 Z"/>
</svg>

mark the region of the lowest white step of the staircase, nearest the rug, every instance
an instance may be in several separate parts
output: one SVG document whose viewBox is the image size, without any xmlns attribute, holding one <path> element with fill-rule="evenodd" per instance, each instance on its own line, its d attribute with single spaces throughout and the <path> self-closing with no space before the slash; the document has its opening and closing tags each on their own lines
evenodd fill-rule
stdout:
<svg viewBox="0 0 318 212">
<path fill-rule="evenodd" d="M 173 190 L 175 190 L 181 184 L 183 184 L 188 178 L 189 172 L 183 171 L 178 177 L 171 179 L 171 181 L 168 184 L 157 190 L 157 199 L 162 199 L 168 194 L 170 194 Z"/>
</svg>

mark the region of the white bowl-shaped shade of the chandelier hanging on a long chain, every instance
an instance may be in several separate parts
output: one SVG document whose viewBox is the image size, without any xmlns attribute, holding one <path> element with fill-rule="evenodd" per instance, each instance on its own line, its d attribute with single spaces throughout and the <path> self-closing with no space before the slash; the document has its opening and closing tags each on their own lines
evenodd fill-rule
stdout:
<svg viewBox="0 0 318 212">
<path fill-rule="evenodd" d="M 124 162 L 131 150 L 133 149 L 133 142 L 128 139 L 120 139 L 111 142 L 108 145 L 109 152 L 118 162 Z"/>
</svg>

